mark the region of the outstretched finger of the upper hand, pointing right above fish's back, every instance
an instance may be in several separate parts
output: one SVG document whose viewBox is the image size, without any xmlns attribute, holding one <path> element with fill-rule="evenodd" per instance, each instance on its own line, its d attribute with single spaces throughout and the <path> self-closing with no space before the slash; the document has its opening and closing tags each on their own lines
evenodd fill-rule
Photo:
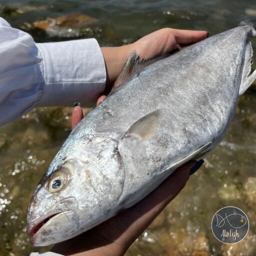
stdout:
<svg viewBox="0 0 256 256">
<path fill-rule="evenodd" d="M 206 31 L 193 31 L 170 28 L 178 44 L 192 44 L 207 38 Z"/>
</svg>

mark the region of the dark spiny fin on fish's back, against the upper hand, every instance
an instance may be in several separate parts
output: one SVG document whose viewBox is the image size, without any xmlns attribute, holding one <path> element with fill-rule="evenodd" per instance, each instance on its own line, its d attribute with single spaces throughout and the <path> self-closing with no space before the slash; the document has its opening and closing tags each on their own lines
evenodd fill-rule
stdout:
<svg viewBox="0 0 256 256">
<path fill-rule="evenodd" d="M 136 53 L 136 51 L 131 52 L 120 74 L 116 78 L 114 85 L 112 87 L 112 90 L 114 90 L 120 84 L 130 79 L 134 74 L 139 73 L 142 69 L 144 69 L 148 65 L 171 55 L 175 51 L 176 50 L 168 52 L 166 54 L 162 54 L 157 57 L 153 57 L 153 58 L 148 58 L 148 59 L 142 58 L 140 61 L 139 61 L 139 55 Z"/>
</svg>

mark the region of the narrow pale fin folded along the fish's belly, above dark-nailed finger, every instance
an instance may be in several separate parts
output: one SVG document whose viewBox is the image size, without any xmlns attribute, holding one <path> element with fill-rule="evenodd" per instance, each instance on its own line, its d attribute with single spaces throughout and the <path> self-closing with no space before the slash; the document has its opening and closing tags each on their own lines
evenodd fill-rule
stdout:
<svg viewBox="0 0 256 256">
<path fill-rule="evenodd" d="M 195 150 L 194 152 L 186 155 L 185 157 L 183 157 L 182 159 L 174 162 L 173 164 L 171 164 L 170 166 L 168 166 L 167 168 L 163 169 L 161 172 L 164 172 L 166 170 L 170 170 L 170 169 L 176 169 L 177 167 L 181 166 L 182 164 L 186 163 L 187 161 L 191 160 L 191 159 L 199 159 L 202 158 L 203 155 L 205 155 L 208 151 L 210 151 L 210 146 L 211 146 L 212 142 L 208 142 L 207 144 L 201 146 L 199 149 Z"/>
</svg>

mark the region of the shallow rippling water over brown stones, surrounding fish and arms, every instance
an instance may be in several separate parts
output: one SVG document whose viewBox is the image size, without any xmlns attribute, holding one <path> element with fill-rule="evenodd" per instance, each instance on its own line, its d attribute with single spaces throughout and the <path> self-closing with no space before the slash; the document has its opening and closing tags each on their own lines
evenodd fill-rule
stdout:
<svg viewBox="0 0 256 256">
<path fill-rule="evenodd" d="M 0 0 L 0 15 L 11 25 L 32 34 L 37 42 L 96 37 L 101 45 L 134 41 L 161 27 L 205 29 L 215 34 L 256 18 L 251 0 Z M 64 38 L 31 29 L 46 17 L 81 12 L 98 23 L 65 33 Z M 248 15 L 250 14 L 250 15 Z M 253 43 L 254 49 L 255 42 Z M 255 59 L 254 59 L 255 62 Z M 0 255 L 24 256 L 32 247 L 25 233 L 31 193 L 70 132 L 70 108 L 38 108 L 0 127 Z M 256 90 L 239 100 L 228 133 L 193 174 L 181 193 L 138 237 L 127 255 L 255 255 Z M 255 186 L 254 186 L 255 187 Z M 254 192 L 253 192 L 254 191 Z M 221 207 L 241 208 L 250 221 L 241 242 L 229 246 L 213 236 L 213 214 Z"/>
</svg>

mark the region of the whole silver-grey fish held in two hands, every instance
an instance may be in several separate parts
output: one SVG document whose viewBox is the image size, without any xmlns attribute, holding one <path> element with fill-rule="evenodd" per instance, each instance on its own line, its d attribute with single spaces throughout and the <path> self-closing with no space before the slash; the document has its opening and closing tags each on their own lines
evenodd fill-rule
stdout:
<svg viewBox="0 0 256 256">
<path fill-rule="evenodd" d="M 250 37 L 256 31 L 244 24 L 167 56 L 131 53 L 113 90 L 71 131 L 35 188 L 31 243 L 98 225 L 211 152 L 256 79 Z"/>
</svg>

